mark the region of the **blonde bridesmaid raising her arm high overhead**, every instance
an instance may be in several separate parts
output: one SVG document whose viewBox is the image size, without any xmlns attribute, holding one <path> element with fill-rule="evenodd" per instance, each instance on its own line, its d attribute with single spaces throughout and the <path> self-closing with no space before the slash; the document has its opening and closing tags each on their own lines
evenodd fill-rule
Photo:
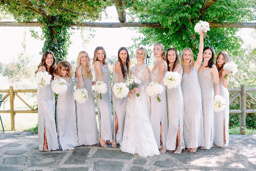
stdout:
<svg viewBox="0 0 256 171">
<path fill-rule="evenodd" d="M 204 36 L 200 33 L 199 53 L 194 62 L 191 48 L 186 47 L 181 52 L 183 76 L 181 89 L 184 99 L 183 138 L 185 146 L 191 153 L 197 151 L 204 139 L 203 131 L 202 97 L 198 82 L 198 70 L 203 60 Z"/>
</svg>

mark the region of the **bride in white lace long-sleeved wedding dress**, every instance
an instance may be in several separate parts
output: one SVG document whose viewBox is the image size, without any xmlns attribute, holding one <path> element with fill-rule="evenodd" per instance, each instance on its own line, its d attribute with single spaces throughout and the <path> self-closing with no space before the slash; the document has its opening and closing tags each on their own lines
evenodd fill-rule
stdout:
<svg viewBox="0 0 256 171">
<path fill-rule="evenodd" d="M 137 65 L 131 68 L 130 76 L 142 80 L 142 83 L 129 92 L 123 129 L 122 152 L 138 153 L 141 157 L 159 155 L 156 139 L 149 119 L 150 98 L 146 94 L 146 86 L 150 82 L 150 69 L 143 62 L 146 49 L 140 47 L 136 51 Z M 140 96 L 137 97 L 136 93 Z"/>
</svg>

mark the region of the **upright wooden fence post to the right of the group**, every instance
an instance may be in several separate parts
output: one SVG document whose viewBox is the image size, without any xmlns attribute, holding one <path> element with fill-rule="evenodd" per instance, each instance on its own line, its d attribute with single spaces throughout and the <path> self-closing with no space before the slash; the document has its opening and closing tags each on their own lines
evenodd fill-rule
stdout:
<svg viewBox="0 0 256 171">
<path fill-rule="evenodd" d="M 240 134 L 246 134 L 246 85 L 241 85 L 240 95 Z"/>
</svg>

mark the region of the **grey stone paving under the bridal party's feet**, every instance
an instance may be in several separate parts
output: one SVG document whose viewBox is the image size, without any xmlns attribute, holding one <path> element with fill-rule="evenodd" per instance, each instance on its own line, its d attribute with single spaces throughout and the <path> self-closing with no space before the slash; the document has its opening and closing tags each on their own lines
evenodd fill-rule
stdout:
<svg viewBox="0 0 256 171">
<path fill-rule="evenodd" d="M 141 158 L 111 145 L 40 152 L 37 135 L 0 132 L 0 171 L 256 171 L 256 135 L 231 135 L 226 148 Z"/>
</svg>

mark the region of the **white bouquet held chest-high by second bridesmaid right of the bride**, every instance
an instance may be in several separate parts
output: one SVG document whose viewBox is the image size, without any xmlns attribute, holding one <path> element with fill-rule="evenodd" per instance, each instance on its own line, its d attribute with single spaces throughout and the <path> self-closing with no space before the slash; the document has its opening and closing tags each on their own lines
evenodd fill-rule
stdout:
<svg viewBox="0 0 256 171">
<path fill-rule="evenodd" d="M 177 85 L 181 82 L 181 76 L 178 72 L 167 71 L 163 82 L 167 88 L 176 88 Z"/>
</svg>

